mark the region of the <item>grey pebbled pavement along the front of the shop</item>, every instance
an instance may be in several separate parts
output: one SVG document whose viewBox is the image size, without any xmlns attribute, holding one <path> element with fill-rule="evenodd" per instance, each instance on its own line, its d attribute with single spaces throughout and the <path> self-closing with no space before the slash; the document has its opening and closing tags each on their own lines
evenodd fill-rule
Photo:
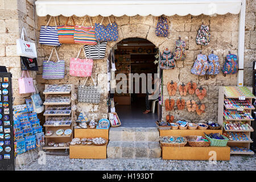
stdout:
<svg viewBox="0 0 256 182">
<path fill-rule="evenodd" d="M 210 164 L 208 161 L 192 160 L 162 160 L 162 159 L 69 159 L 69 156 L 46 155 L 46 164 L 40 165 L 37 161 L 16 170 L 256 170 L 255 155 L 232 155 L 230 161 L 217 161 Z"/>
</svg>

